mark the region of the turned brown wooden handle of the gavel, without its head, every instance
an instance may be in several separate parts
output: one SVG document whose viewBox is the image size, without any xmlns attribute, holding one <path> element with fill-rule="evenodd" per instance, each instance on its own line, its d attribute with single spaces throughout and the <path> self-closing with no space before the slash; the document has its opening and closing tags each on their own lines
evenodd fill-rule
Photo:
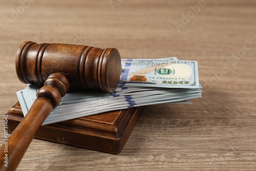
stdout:
<svg viewBox="0 0 256 171">
<path fill-rule="evenodd" d="M 69 89 L 68 79 L 51 74 L 37 93 L 29 112 L 0 148 L 0 170 L 15 170 L 41 124 Z M 8 166 L 8 167 L 7 167 Z"/>
</svg>

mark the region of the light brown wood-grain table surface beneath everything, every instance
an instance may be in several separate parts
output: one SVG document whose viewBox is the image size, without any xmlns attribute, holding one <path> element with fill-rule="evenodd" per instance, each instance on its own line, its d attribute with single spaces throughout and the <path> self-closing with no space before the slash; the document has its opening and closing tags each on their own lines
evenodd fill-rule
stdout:
<svg viewBox="0 0 256 171">
<path fill-rule="evenodd" d="M 191 104 L 146 106 L 119 155 L 34 139 L 17 170 L 256 169 L 256 1 L 2 0 L 0 18 L 1 118 L 26 87 L 25 40 L 198 60 L 204 87 Z"/>
</svg>

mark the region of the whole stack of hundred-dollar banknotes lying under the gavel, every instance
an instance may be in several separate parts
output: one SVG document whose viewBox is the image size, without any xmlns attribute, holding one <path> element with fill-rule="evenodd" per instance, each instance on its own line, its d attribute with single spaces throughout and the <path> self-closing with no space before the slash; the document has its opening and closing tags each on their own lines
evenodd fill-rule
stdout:
<svg viewBox="0 0 256 171">
<path fill-rule="evenodd" d="M 67 93 L 43 125 L 98 113 L 161 103 L 190 103 L 201 97 L 197 61 L 122 59 L 122 74 L 113 93 L 81 91 Z M 24 116 L 36 99 L 38 87 L 29 84 L 17 96 Z"/>
</svg>

